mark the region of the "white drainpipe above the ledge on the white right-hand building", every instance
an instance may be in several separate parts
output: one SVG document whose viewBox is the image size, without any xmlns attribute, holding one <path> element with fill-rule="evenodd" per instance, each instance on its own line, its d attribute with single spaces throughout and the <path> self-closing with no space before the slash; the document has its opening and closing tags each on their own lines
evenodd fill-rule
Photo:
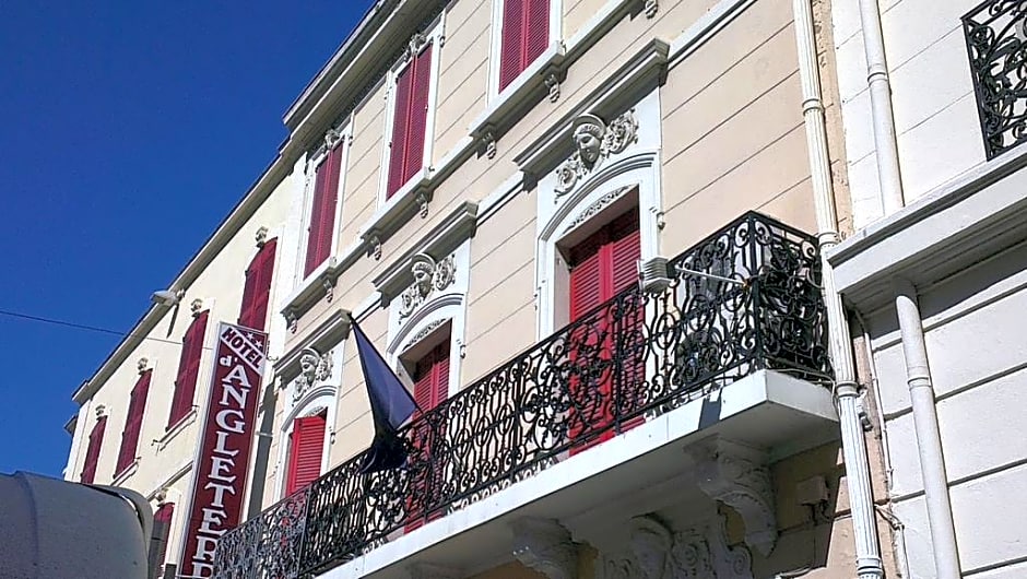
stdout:
<svg viewBox="0 0 1027 579">
<path fill-rule="evenodd" d="M 888 79 L 877 0 L 860 0 L 860 21 L 863 24 L 866 83 L 870 86 L 870 106 L 874 123 L 877 182 L 881 186 L 881 205 L 887 216 L 902 209 L 906 200 L 895 138 L 895 115 L 892 111 L 892 81 Z"/>
</svg>

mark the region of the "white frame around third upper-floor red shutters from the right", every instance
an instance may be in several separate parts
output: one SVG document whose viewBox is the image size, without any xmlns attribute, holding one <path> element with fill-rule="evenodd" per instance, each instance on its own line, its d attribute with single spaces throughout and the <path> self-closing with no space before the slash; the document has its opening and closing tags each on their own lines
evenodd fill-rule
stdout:
<svg viewBox="0 0 1027 579">
<path fill-rule="evenodd" d="M 338 135 L 334 140 L 329 139 L 332 130 L 334 130 Z M 342 193 L 346 188 L 346 168 L 350 165 L 350 144 L 353 141 L 352 115 L 342 127 L 332 130 L 326 133 L 324 142 L 327 146 L 318 149 L 307 157 L 304 173 L 303 212 L 300 215 L 302 235 L 299 239 L 299 260 L 296 264 L 297 285 L 303 285 L 308 280 L 319 277 L 333 261 L 333 258 L 337 257 L 339 250 L 339 231 L 342 220 L 342 205 L 344 204 Z M 328 259 L 326 259 L 323 263 L 315 268 L 309 275 L 304 276 L 304 268 L 307 262 L 307 246 L 310 240 L 310 217 L 314 215 L 314 189 L 317 186 L 317 168 L 321 166 L 321 163 L 324 163 L 329 152 L 331 152 L 334 146 L 342 146 L 343 149 L 342 159 L 339 166 L 339 189 L 335 191 L 335 227 L 332 231 L 331 251 L 329 251 Z"/>
</svg>

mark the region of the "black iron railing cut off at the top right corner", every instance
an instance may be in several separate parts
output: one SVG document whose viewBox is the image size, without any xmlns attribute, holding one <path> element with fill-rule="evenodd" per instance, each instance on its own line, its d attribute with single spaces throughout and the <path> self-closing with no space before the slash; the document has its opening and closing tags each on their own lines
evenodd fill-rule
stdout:
<svg viewBox="0 0 1027 579">
<path fill-rule="evenodd" d="M 988 0 L 963 16 L 988 158 L 1027 140 L 1025 24 L 1025 0 Z"/>
</svg>

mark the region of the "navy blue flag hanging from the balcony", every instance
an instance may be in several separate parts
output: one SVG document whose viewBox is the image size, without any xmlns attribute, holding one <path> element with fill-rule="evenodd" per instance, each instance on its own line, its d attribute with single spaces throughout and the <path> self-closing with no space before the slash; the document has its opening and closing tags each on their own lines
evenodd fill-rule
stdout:
<svg viewBox="0 0 1027 579">
<path fill-rule="evenodd" d="M 417 404 L 355 320 L 352 328 L 375 420 L 375 439 L 367 451 L 367 459 L 361 465 L 361 472 L 402 466 L 406 463 L 406 447 L 397 436 L 397 430 L 417 410 Z"/>
</svg>

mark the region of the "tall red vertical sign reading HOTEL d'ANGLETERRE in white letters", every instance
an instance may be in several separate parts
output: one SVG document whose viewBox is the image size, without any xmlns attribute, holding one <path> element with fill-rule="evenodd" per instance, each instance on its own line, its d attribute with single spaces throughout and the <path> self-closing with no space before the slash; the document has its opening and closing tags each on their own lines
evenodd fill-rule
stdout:
<svg viewBox="0 0 1027 579">
<path fill-rule="evenodd" d="M 224 322 L 217 326 L 179 577 L 211 577 L 217 540 L 239 524 L 267 352 L 268 334 Z"/>
</svg>

